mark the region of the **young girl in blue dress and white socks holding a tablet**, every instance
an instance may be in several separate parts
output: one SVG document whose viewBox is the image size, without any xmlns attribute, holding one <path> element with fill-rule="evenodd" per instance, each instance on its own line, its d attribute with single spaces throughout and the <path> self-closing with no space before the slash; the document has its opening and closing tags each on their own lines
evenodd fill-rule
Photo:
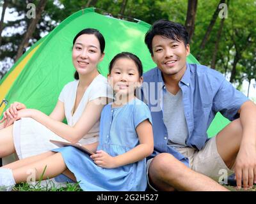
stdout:
<svg viewBox="0 0 256 204">
<path fill-rule="evenodd" d="M 47 166 L 44 179 L 68 169 L 69 177 L 84 191 L 145 191 L 145 157 L 152 154 L 154 142 L 150 110 L 134 96 L 142 82 L 140 59 L 128 52 L 118 54 L 109 64 L 109 73 L 116 99 L 102 110 L 97 151 L 85 146 L 96 154 L 62 147 L 23 159 L 0 168 L 0 186 L 26 181 L 28 170 L 35 170 L 39 179 Z"/>
</svg>

